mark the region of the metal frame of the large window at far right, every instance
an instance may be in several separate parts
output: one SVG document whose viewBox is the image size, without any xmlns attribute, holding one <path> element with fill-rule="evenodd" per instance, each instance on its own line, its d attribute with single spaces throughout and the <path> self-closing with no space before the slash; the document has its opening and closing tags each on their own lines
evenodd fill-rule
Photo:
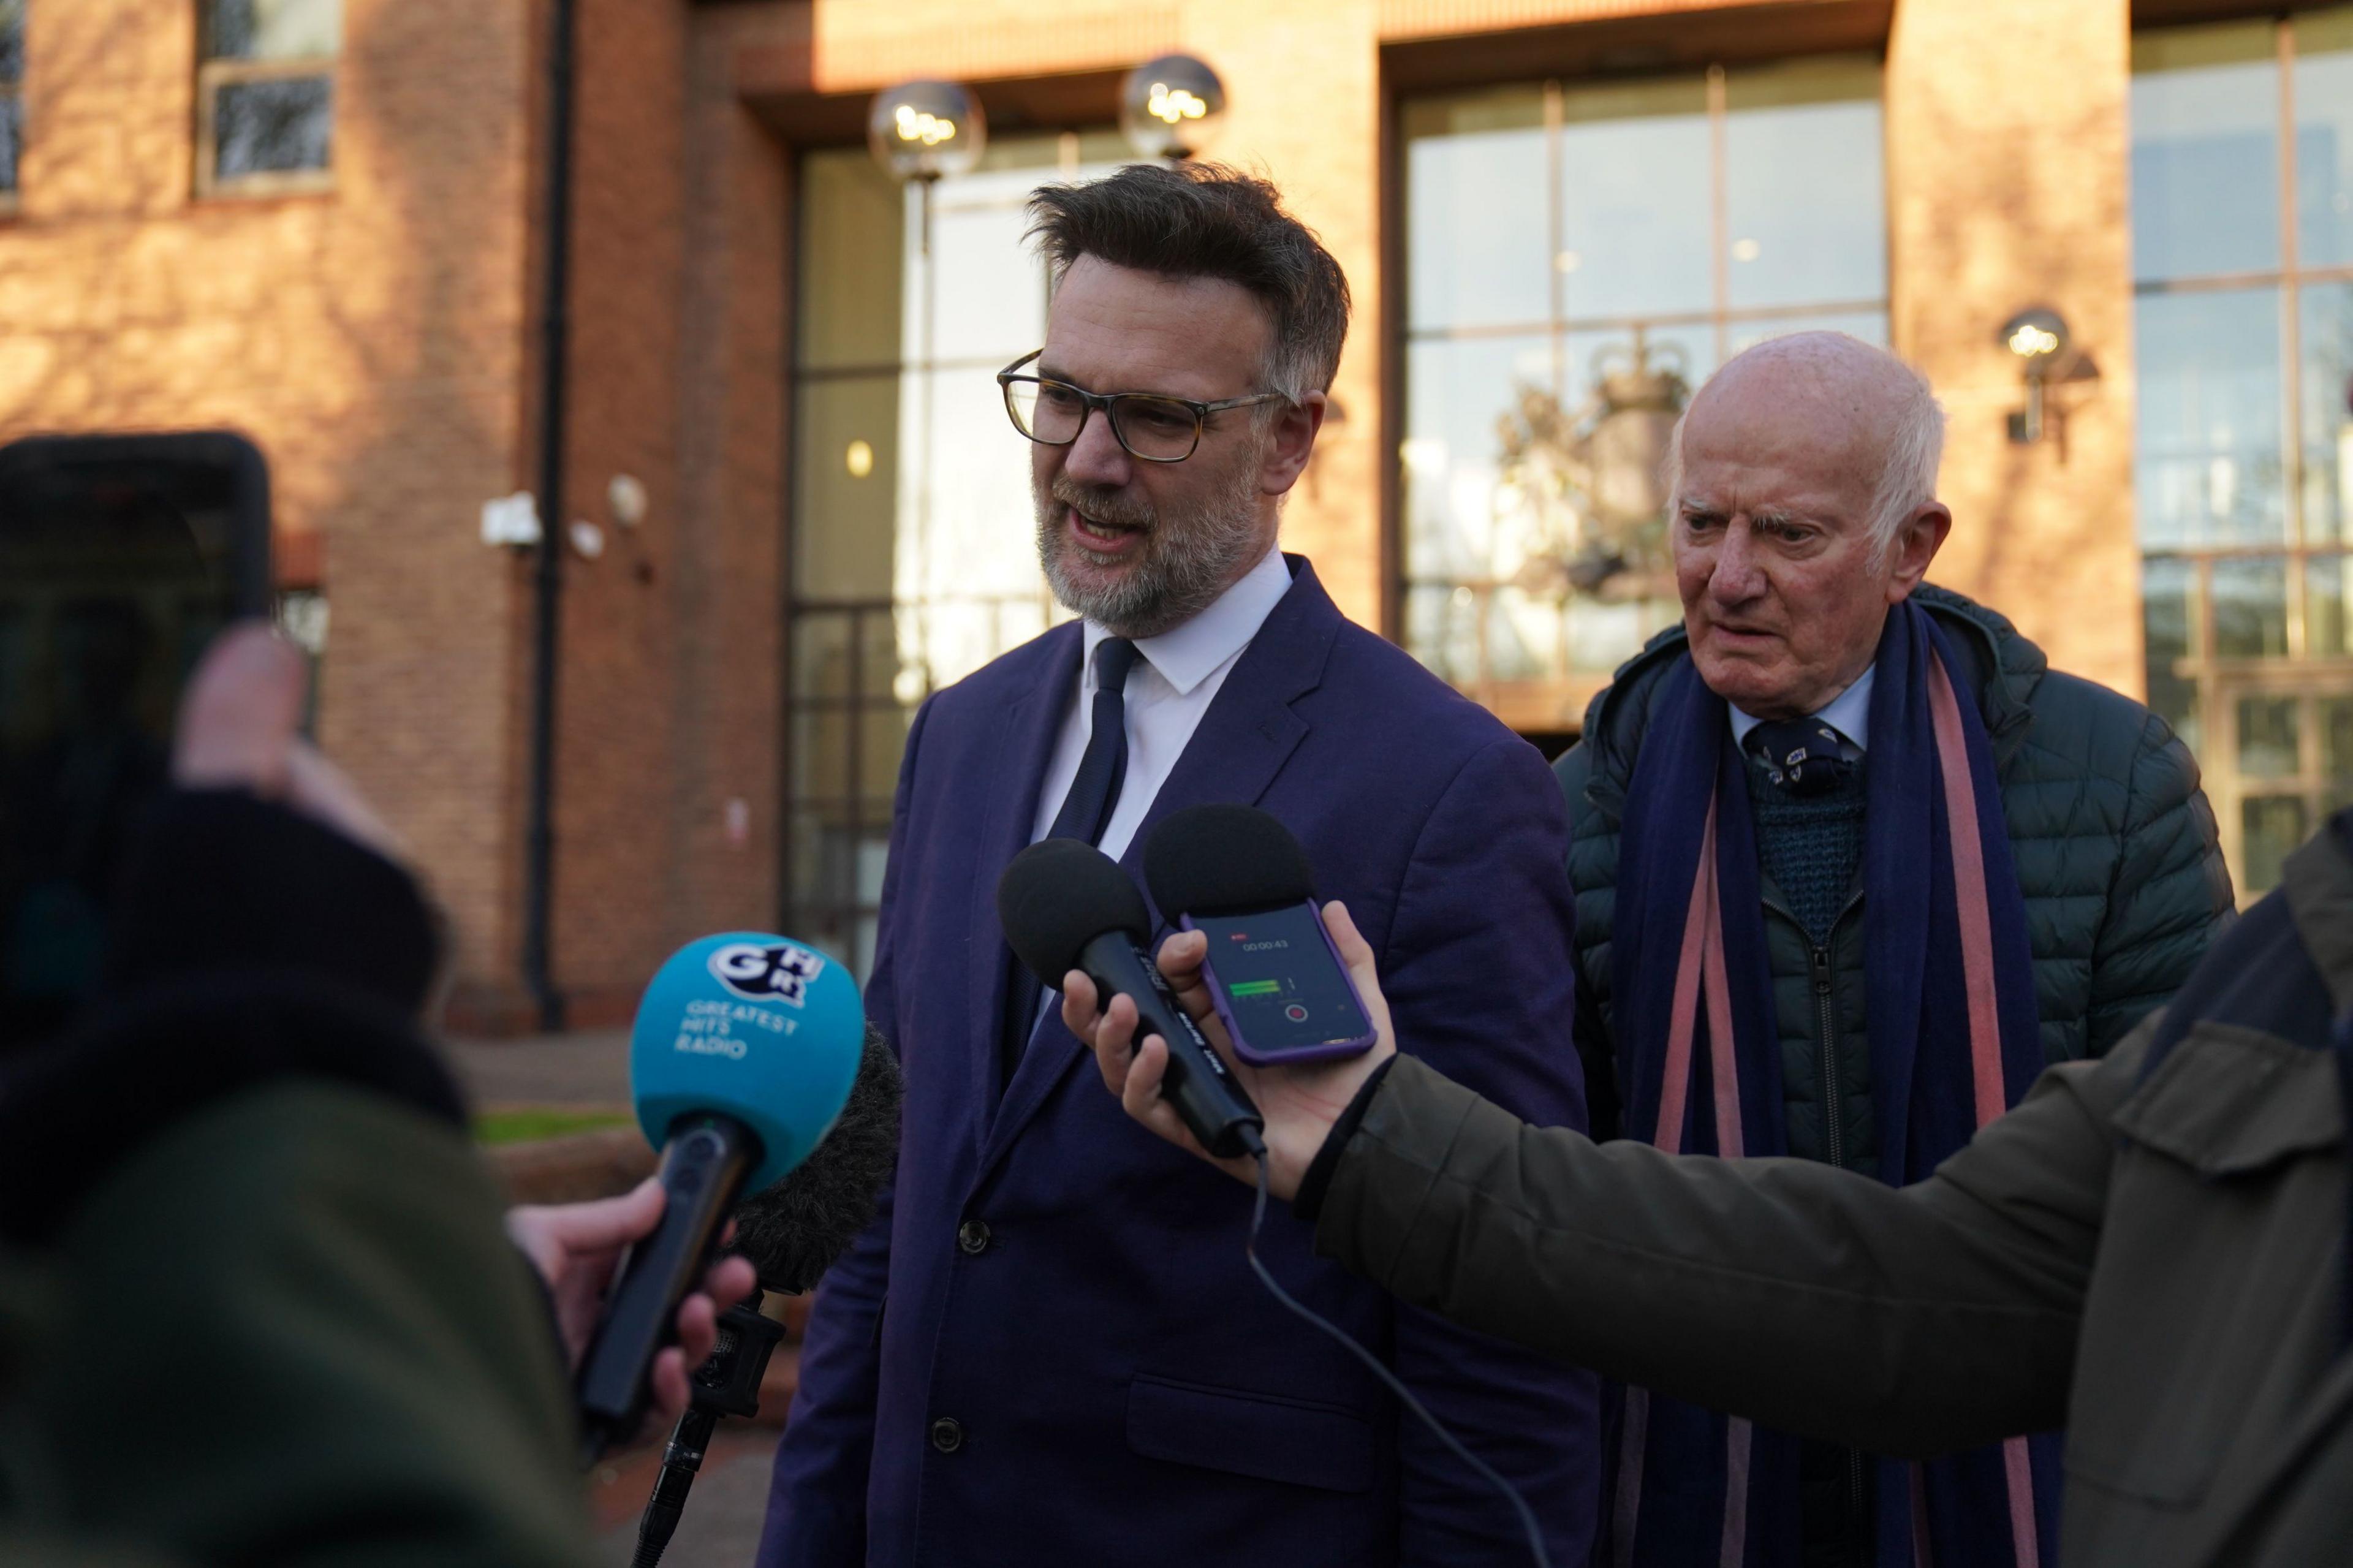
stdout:
<svg viewBox="0 0 2353 1568">
<path fill-rule="evenodd" d="M 2207 798 L 2214 808 L 2214 826 L 2221 838 L 2224 859 L 2240 904 L 2252 904 L 2268 888 L 2249 888 L 2245 876 L 2247 805 L 2259 800 L 2294 798 L 2304 805 L 2304 824 L 2311 831 L 2327 817 L 2329 793 L 2353 786 L 2327 772 L 2325 727 L 2320 723 L 2327 702 L 2353 699 L 2353 655 L 2311 652 L 2311 563 L 2353 556 L 2353 530 L 2341 539 L 2311 539 L 2304 516 L 2304 290 L 2329 283 L 2353 283 L 2348 266 L 2304 266 L 2299 252 L 2301 235 L 2297 207 L 2297 31 L 2294 14 L 2273 16 L 2273 68 L 2275 68 L 2275 141 L 2278 141 L 2278 198 L 2280 198 L 2280 264 L 2275 268 L 2198 273 L 2184 278 L 2134 278 L 2132 297 L 2151 299 L 2162 294 L 2221 294 L 2273 290 L 2278 294 L 2280 330 L 2280 487 L 2285 530 L 2278 542 L 2266 544 L 2191 544 L 2144 549 L 2141 563 L 2181 560 L 2191 567 L 2191 614 L 2188 652 L 2165 669 L 2174 680 L 2186 680 L 2195 697 L 2198 760 L 2205 772 Z M 2242 657 L 2217 652 L 2217 600 L 2214 567 L 2231 560 L 2278 560 L 2282 565 L 2282 619 L 2285 652 Z M 2348 603 L 2353 612 L 2353 603 Z M 2148 607 L 2141 607 L 2144 626 Z M 2240 704 L 2264 699 L 2292 699 L 2297 704 L 2297 770 L 2278 777 L 2247 777 L 2240 772 Z"/>
</svg>

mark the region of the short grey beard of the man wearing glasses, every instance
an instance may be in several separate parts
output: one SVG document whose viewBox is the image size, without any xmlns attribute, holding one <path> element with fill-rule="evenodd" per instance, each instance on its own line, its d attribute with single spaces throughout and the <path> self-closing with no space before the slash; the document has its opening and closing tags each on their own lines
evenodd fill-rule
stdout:
<svg viewBox="0 0 2353 1568">
<path fill-rule="evenodd" d="M 1038 509 L 1038 563 L 1054 589 L 1054 600 L 1122 638 L 1151 638 L 1186 624 L 1257 565 L 1259 551 L 1259 466 L 1238 464 L 1233 483 L 1209 497 L 1200 513 L 1169 523 L 1144 501 L 1120 492 L 1096 492 L 1054 476 Z M 1073 582 L 1064 563 L 1061 509 L 1075 506 L 1089 518 L 1141 527 L 1144 553 L 1136 570 L 1106 589 Z M 1085 549 L 1085 546 L 1075 546 Z"/>
</svg>

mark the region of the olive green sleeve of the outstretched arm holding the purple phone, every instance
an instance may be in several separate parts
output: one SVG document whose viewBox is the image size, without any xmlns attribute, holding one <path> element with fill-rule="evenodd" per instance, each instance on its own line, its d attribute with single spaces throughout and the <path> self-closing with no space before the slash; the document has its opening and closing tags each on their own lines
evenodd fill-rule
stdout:
<svg viewBox="0 0 2353 1568">
<path fill-rule="evenodd" d="M 1659 1394 L 1887 1455 L 2059 1427 L 2137 1050 L 2047 1071 L 1927 1182 L 1532 1128 L 1400 1057 L 1315 1248 Z"/>
</svg>

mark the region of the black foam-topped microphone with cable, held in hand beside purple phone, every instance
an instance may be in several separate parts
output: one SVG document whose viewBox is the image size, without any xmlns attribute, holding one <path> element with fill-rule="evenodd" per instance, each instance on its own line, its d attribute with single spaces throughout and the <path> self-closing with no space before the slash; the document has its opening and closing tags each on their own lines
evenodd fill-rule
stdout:
<svg viewBox="0 0 2353 1568">
<path fill-rule="evenodd" d="M 1169 1048 L 1160 1097 L 1176 1107 L 1202 1149 L 1233 1158 L 1266 1147 L 1259 1107 L 1144 951 L 1153 918 L 1118 862 L 1078 838 L 1033 843 L 998 878 L 998 923 L 1042 984 L 1059 991 L 1064 975 L 1078 970 L 1094 982 L 1099 1008 L 1113 996 L 1136 1003 L 1136 1038 L 1158 1034 Z"/>
</svg>

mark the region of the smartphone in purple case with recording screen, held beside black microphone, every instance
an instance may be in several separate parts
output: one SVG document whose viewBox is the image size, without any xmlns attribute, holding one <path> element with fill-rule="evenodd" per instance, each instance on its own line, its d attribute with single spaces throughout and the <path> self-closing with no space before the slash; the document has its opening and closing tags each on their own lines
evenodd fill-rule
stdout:
<svg viewBox="0 0 2353 1568">
<path fill-rule="evenodd" d="M 1372 1015 L 1315 904 L 1184 916 L 1179 925 L 1209 937 L 1209 998 L 1245 1062 L 1275 1067 L 1372 1050 Z"/>
</svg>

